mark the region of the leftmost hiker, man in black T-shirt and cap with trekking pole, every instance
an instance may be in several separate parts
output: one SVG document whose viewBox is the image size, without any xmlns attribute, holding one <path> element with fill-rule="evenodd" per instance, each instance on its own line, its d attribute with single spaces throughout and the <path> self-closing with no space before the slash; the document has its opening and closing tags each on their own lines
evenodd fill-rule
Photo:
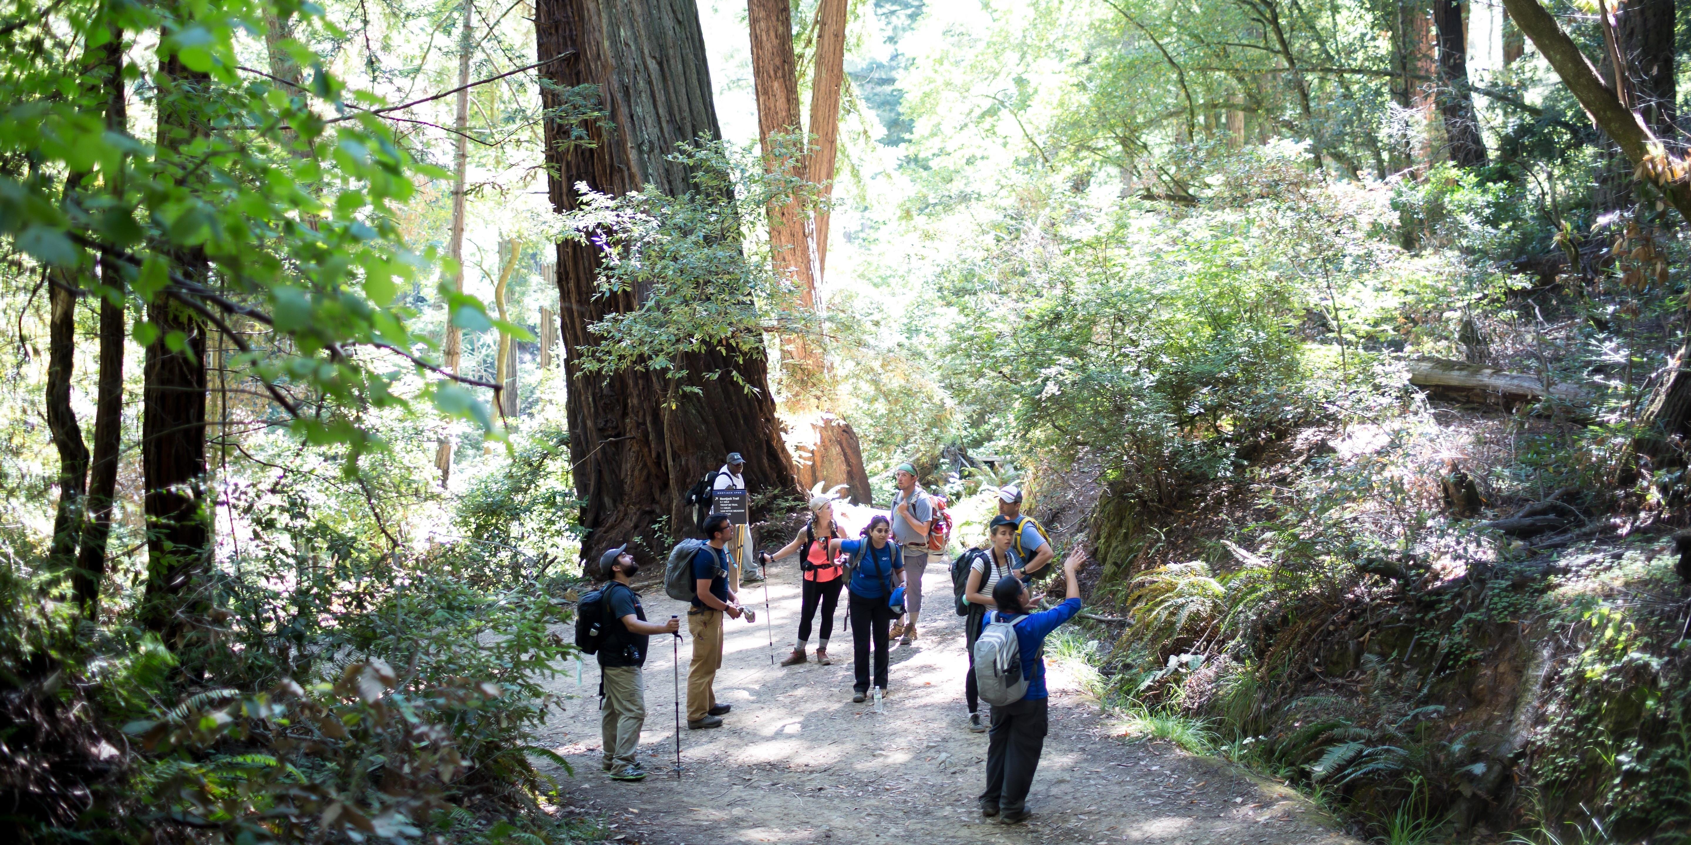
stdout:
<svg viewBox="0 0 1691 845">
<path fill-rule="evenodd" d="M 639 563 L 627 553 L 627 544 L 599 556 L 599 571 L 609 573 L 604 602 L 610 605 L 605 641 L 599 646 L 599 739 L 604 745 L 600 767 L 612 781 L 644 781 L 646 771 L 634 760 L 639 745 L 639 728 L 646 723 L 646 683 L 641 668 L 646 666 L 646 646 L 653 634 L 675 634 L 681 622 L 675 617 L 663 624 L 646 622 L 646 608 L 629 580 L 639 571 Z"/>
</svg>

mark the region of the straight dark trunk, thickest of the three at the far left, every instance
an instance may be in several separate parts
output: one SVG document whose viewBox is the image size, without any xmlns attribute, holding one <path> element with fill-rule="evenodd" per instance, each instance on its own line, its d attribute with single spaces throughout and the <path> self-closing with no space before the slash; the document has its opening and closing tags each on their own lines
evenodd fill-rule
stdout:
<svg viewBox="0 0 1691 845">
<path fill-rule="evenodd" d="M 205 74 L 188 71 L 174 56 L 159 63 L 159 147 L 181 149 L 203 132 L 186 101 Z M 203 250 L 171 255 L 176 270 L 211 286 Z M 211 554 L 211 509 L 205 500 L 206 473 L 206 331 L 191 311 L 159 294 L 147 306 L 159 338 L 147 345 L 142 372 L 140 473 L 147 514 L 147 592 L 140 620 L 181 646 L 189 607 Z M 181 348 L 171 348 L 179 341 Z"/>
</svg>

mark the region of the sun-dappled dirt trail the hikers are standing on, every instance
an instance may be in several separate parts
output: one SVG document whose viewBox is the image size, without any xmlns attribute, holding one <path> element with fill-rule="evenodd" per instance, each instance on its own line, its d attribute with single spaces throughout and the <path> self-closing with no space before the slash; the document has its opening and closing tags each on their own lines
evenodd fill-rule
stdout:
<svg viewBox="0 0 1691 845">
<path fill-rule="evenodd" d="M 771 568 L 776 656 L 798 624 L 798 575 Z M 649 619 L 683 613 L 661 585 L 641 590 Z M 1119 739 L 1060 668 L 1050 674 L 1050 737 L 1028 796 L 1032 818 L 986 820 L 974 804 L 984 781 L 986 733 L 964 727 L 967 657 L 950 580 L 928 568 L 922 639 L 893 651 L 886 711 L 851 701 L 851 635 L 834 629 L 834 666 L 769 664 L 763 590 L 758 622 L 729 620 L 717 700 L 734 705 L 715 730 L 681 727 L 683 777 L 675 779 L 671 649 L 653 637 L 646 662 L 641 764 L 653 777 L 617 782 L 599 769 L 599 668 L 588 659 L 555 691 L 580 695 L 543 737 L 570 759 L 565 806 L 607 815 L 612 838 L 649 845 L 747 842 L 927 843 L 1354 843 L 1295 793 L 1224 762 L 1163 744 Z M 683 632 L 685 632 L 683 625 Z M 680 644 L 687 695 L 690 644 Z M 984 706 L 982 706 L 984 710 Z M 685 717 L 685 708 L 683 708 Z"/>
</svg>

